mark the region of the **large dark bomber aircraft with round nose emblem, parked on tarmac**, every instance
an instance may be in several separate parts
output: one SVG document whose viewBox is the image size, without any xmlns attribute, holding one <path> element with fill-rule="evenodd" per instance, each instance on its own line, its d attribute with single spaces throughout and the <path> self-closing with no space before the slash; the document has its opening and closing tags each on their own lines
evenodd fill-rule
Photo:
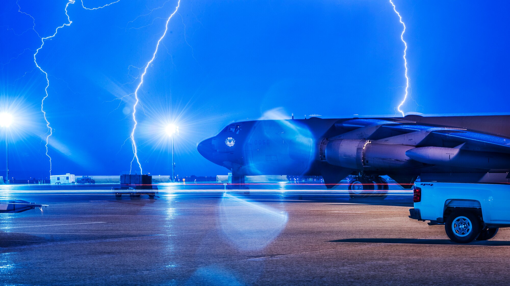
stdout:
<svg viewBox="0 0 510 286">
<path fill-rule="evenodd" d="M 198 152 L 244 176 L 349 175 L 351 195 L 387 190 L 381 176 L 411 188 L 426 181 L 509 182 L 510 116 L 290 119 L 236 122 L 199 142 Z"/>
</svg>

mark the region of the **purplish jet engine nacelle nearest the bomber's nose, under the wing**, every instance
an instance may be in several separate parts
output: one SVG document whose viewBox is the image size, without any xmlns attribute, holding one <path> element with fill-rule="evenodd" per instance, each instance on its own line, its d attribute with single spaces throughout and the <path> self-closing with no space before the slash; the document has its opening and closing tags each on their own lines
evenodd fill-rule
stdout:
<svg viewBox="0 0 510 286">
<path fill-rule="evenodd" d="M 423 166 L 405 153 L 413 146 L 379 144 L 370 140 L 335 139 L 327 142 L 324 159 L 331 165 L 358 170 L 399 170 Z"/>
</svg>

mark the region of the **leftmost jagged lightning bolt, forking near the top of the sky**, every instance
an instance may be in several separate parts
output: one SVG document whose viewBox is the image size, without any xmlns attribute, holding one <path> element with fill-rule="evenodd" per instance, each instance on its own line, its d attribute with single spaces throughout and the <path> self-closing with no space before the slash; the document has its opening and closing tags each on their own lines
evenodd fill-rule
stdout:
<svg viewBox="0 0 510 286">
<path fill-rule="evenodd" d="M 87 10 L 96 10 L 96 9 L 100 9 L 100 8 L 104 8 L 106 6 L 110 6 L 114 3 L 117 3 L 119 2 L 120 0 L 117 0 L 116 2 L 112 2 L 110 4 L 107 4 L 105 6 L 102 6 L 102 7 L 97 7 L 97 8 L 86 8 L 84 5 L 83 5 L 83 0 L 81 1 L 82 2 L 82 7 L 84 9 L 87 9 Z M 37 63 L 37 54 L 39 53 L 39 50 L 42 49 L 42 47 L 44 46 L 44 43 L 47 39 L 51 39 L 53 37 L 55 37 L 57 35 L 57 33 L 59 32 L 59 29 L 60 28 L 63 28 L 64 26 L 70 26 L 72 21 L 71 19 L 69 18 L 69 15 L 67 14 L 67 8 L 69 7 L 69 4 L 74 4 L 75 0 L 69 0 L 67 2 L 67 4 L 65 5 L 65 15 L 67 16 L 67 23 L 64 23 L 62 24 L 61 26 L 58 26 L 56 29 L 55 29 L 55 33 L 52 35 L 52 36 L 48 36 L 48 37 L 40 37 L 39 36 L 39 33 L 37 33 L 37 31 L 35 31 L 35 19 L 34 17 L 32 17 L 32 15 L 30 14 L 27 14 L 25 12 L 21 12 L 21 8 L 19 7 L 19 4 L 18 4 L 18 7 L 19 7 L 19 10 L 18 12 L 22 13 L 22 14 L 27 14 L 29 15 L 33 20 L 34 20 L 34 26 L 32 27 L 32 30 L 34 30 L 34 32 L 36 32 L 36 34 L 39 36 L 39 38 L 41 39 L 41 46 L 36 50 L 36 52 L 34 53 L 34 63 L 36 65 L 36 67 L 42 72 L 44 73 L 44 76 L 46 77 L 46 87 L 44 88 L 44 93 L 45 93 L 45 96 L 42 98 L 41 100 L 41 111 L 42 111 L 42 114 L 44 116 L 44 121 L 46 122 L 46 128 L 48 128 L 48 131 L 44 134 L 46 136 L 46 144 L 45 144 L 45 148 L 46 148 L 46 156 L 49 158 L 49 175 L 51 176 L 52 175 L 52 157 L 49 156 L 48 154 L 48 139 L 49 139 L 49 136 L 52 136 L 53 134 L 53 128 L 49 126 L 49 121 L 46 117 L 46 111 L 44 111 L 44 100 L 48 97 L 48 88 L 49 88 L 49 78 L 48 78 L 48 73 L 46 71 L 44 71 L 40 66 L 39 64 Z M 16 2 L 17 3 L 17 2 Z M 26 32 L 26 31 L 25 31 Z M 24 33 L 24 32 L 23 32 Z M 44 136 L 43 135 L 43 136 Z"/>
</svg>

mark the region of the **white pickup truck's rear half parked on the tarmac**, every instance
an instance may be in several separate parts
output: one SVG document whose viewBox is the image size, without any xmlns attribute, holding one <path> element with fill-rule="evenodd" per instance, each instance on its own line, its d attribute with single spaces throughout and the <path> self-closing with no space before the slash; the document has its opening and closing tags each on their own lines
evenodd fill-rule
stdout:
<svg viewBox="0 0 510 286">
<path fill-rule="evenodd" d="M 493 238 L 510 226 L 510 184 L 416 182 L 410 218 L 445 226 L 457 243 Z"/>
</svg>

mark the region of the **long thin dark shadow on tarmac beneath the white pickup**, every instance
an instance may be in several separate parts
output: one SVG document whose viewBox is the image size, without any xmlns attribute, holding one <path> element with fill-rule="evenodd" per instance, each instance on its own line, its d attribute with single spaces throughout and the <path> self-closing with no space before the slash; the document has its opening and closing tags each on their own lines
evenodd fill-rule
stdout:
<svg viewBox="0 0 510 286">
<path fill-rule="evenodd" d="M 438 244 L 438 245 L 462 245 L 449 239 L 414 239 L 414 238 L 351 238 L 331 240 L 329 242 L 365 242 L 365 243 L 403 243 L 403 244 Z M 466 245 L 483 246 L 510 246 L 510 241 L 484 240 L 474 241 Z"/>
</svg>

